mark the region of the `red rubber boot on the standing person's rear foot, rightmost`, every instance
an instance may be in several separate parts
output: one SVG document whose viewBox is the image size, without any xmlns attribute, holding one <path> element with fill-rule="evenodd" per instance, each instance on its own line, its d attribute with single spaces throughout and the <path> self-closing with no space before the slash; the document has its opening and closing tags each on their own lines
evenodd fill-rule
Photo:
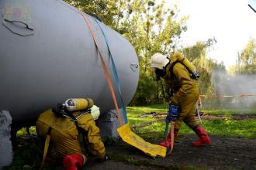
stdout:
<svg viewBox="0 0 256 170">
<path fill-rule="evenodd" d="M 202 126 L 197 126 L 195 129 L 195 134 L 199 136 L 199 141 L 192 142 L 192 146 L 199 147 L 201 145 L 206 145 L 211 143 L 211 139 L 209 138 L 206 130 L 202 128 Z"/>
</svg>

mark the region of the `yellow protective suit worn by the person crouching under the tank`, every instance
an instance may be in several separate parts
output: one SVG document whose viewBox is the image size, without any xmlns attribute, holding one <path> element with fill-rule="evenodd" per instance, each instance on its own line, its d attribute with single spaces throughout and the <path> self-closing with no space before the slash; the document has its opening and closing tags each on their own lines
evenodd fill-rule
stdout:
<svg viewBox="0 0 256 170">
<path fill-rule="evenodd" d="M 73 115 L 75 116 L 79 113 L 75 112 Z M 79 138 L 78 129 L 74 121 L 68 117 L 56 117 L 52 109 L 49 109 L 40 114 L 40 117 L 36 121 L 37 135 L 45 138 L 49 127 L 52 128 L 50 141 L 61 156 L 64 157 L 65 155 L 74 153 L 86 155 L 81 149 L 81 139 Z M 87 139 L 92 155 L 105 158 L 106 150 L 99 135 L 99 128 L 96 126 L 90 113 L 78 117 L 78 127 L 88 132 Z"/>
</svg>

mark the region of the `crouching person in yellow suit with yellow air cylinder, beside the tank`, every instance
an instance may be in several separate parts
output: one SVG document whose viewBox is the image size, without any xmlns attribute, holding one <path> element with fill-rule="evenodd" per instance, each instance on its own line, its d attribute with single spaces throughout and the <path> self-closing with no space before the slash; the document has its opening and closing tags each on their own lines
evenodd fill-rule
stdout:
<svg viewBox="0 0 256 170">
<path fill-rule="evenodd" d="M 100 114 L 92 99 L 68 99 L 57 108 L 40 114 L 36 132 L 40 138 L 50 135 L 50 145 L 63 158 L 66 170 L 80 169 L 89 154 L 105 161 L 106 150 L 95 124 Z M 82 144 L 83 143 L 83 144 Z M 87 148 L 87 149 L 85 149 Z M 90 152 L 88 153 L 88 148 Z"/>
</svg>

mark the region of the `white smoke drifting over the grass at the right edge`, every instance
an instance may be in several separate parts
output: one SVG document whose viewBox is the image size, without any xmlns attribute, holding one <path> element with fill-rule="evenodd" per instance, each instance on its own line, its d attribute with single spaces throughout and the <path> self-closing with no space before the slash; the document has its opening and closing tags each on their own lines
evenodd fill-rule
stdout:
<svg viewBox="0 0 256 170">
<path fill-rule="evenodd" d="M 230 75 L 223 70 L 214 70 L 212 80 L 216 95 L 236 96 L 229 99 L 220 98 L 219 100 L 227 103 L 223 104 L 224 107 L 230 109 L 256 108 L 256 75 Z M 247 94 L 255 96 L 239 96 Z"/>
</svg>

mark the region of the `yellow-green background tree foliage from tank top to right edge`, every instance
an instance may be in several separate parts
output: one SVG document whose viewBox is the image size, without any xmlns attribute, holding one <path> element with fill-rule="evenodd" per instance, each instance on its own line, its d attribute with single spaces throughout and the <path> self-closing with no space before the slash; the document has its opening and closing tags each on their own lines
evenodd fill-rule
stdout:
<svg viewBox="0 0 256 170">
<path fill-rule="evenodd" d="M 211 80 L 213 71 L 222 70 L 225 73 L 223 63 L 207 57 L 207 52 L 216 44 L 216 39 L 196 42 L 181 49 L 178 42 L 182 32 L 187 30 L 185 22 L 188 16 L 179 16 L 177 5 L 165 8 L 164 0 L 65 1 L 84 12 L 99 16 L 107 26 L 125 36 L 136 49 L 140 80 L 131 106 L 166 102 L 161 82 L 155 81 L 154 70 L 149 69 L 149 60 L 154 53 L 170 56 L 175 50 L 182 51 L 197 68 L 200 93 L 206 96 L 216 94 L 216 87 Z M 255 40 L 251 39 L 244 50 L 238 53 L 237 66 L 232 67 L 233 73 L 255 73 L 255 44 Z M 223 104 L 220 100 L 213 99 L 204 100 L 204 105 L 214 108 Z"/>
</svg>

